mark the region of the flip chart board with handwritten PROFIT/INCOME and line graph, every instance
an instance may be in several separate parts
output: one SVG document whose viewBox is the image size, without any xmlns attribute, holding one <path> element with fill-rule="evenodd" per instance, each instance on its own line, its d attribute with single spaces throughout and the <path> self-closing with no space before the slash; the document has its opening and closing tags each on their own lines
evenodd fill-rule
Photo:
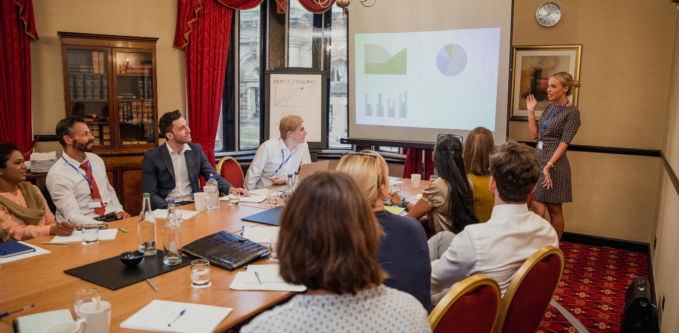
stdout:
<svg viewBox="0 0 679 333">
<path fill-rule="evenodd" d="M 306 142 L 310 148 L 327 146 L 327 117 L 325 112 L 325 72 L 267 71 L 266 121 L 267 138 L 280 137 L 278 125 L 287 115 L 298 115 L 304 120 Z M 312 144 L 317 142 L 318 144 Z"/>
</svg>

